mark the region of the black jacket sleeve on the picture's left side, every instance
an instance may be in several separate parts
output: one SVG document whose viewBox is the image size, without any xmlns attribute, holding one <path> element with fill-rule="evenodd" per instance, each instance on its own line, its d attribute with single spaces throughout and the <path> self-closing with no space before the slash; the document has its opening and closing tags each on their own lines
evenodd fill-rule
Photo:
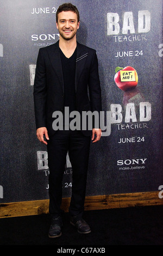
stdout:
<svg viewBox="0 0 163 256">
<path fill-rule="evenodd" d="M 46 127 L 46 67 L 41 48 L 37 57 L 33 95 L 36 129 L 39 127 Z"/>
</svg>

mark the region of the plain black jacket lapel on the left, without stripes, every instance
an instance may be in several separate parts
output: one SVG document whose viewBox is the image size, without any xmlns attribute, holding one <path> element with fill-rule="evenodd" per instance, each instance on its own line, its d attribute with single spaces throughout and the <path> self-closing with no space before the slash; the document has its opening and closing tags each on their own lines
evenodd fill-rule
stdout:
<svg viewBox="0 0 163 256">
<path fill-rule="evenodd" d="M 62 87 L 62 92 L 64 93 L 64 77 L 63 77 L 62 63 L 61 63 L 60 52 L 59 52 L 59 41 L 57 41 L 51 48 L 51 51 L 49 51 L 49 59 L 51 60 L 53 69 L 57 74 L 60 85 Z"/>
</svg>

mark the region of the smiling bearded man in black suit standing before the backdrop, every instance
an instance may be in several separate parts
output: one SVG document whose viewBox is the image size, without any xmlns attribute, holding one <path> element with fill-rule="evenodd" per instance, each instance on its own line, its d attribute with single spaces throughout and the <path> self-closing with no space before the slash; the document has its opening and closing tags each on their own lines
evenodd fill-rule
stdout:
<svg viewBox="0 0 163 256">
<path fill-rule="evenodd" d="M 87 166 L 91 135 L 94 143 L 102 133 L 99 126 L 90 130 L 81 125 L 81 129 L 74 130 L 66 121 L 64 129 L 54 129 L 52 115 L 56 111 L 66 115 L 65 107 L 70 113 L 77 111 L 81 115 L 83 111 L 102 111 L 96 51 L 76 39 L 80 23 L 78 9 L 70 3 L 60 5 L 56 23 L 60 39 L 40 48 L 34 82 L 36 135 L 40 142 L 47 144 L 48 151 L 49 213 L 52 215 L 49 237 L 61 235 L 62 175 L 67 151 L 72 165 L 70 223 L 79 233 L 90 233 L 89 224 L 82 217 Z"/>
</svg>

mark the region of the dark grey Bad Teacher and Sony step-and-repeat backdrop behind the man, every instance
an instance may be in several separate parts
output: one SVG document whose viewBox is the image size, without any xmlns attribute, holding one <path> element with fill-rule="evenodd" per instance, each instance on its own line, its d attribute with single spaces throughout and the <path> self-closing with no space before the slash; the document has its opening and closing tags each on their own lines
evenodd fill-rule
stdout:
<svg viewBox="0 0 163 256">
<path fill-rule="evenodd" d="M 48 155 L 46 145 L 36 138 L 33 84 L 39 48 L 59 40 L 55 14 L 62 3 L 0 3 L 1 203 L 48 199 Z M 101 141 L 91 144 L 86 194 L 159 194 L 162 0 L 72 4 L 80 13 L 78 41 L 97 51 L 106 129 Z M 71 196 L 71 178 L 67 155 L 63 197 Z"/>
</svg>

